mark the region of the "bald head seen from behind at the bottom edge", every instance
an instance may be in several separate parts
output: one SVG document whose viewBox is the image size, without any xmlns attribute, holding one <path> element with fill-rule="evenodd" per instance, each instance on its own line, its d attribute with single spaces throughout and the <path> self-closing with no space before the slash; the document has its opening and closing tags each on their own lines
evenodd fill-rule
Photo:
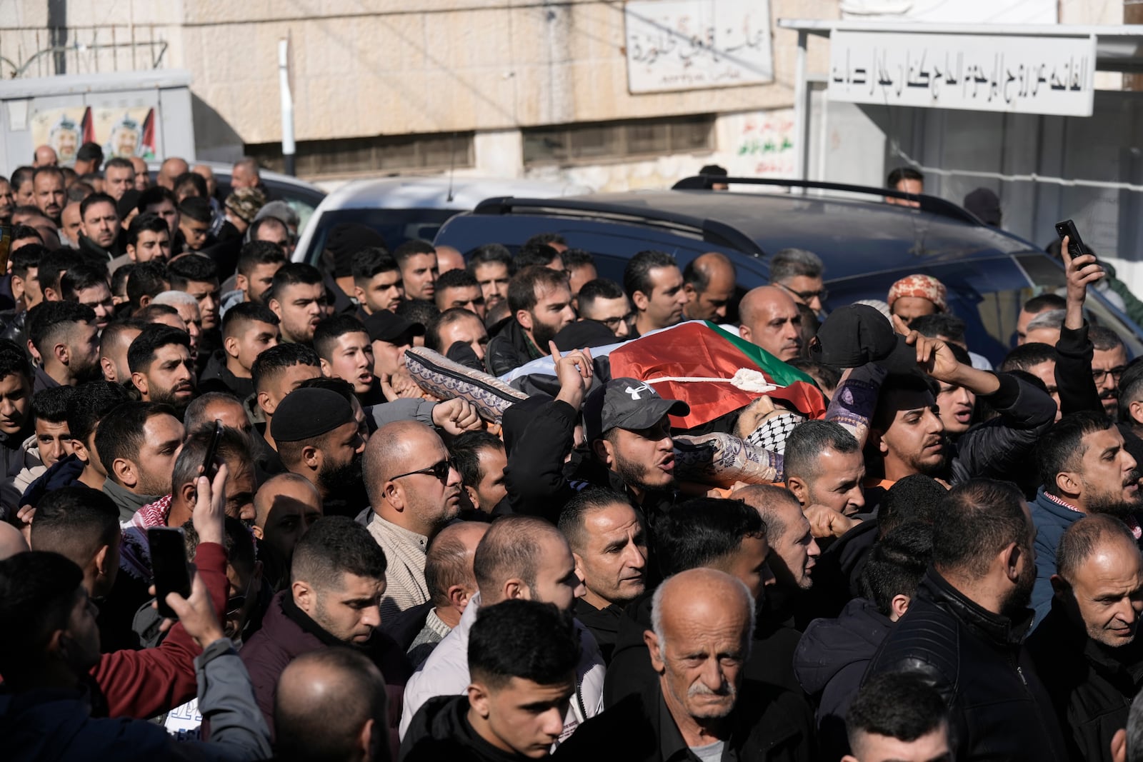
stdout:
<svg viewBox="0 0 1143 762">
<path fill-rule="evenodd" d="M 353 649 L 303 653 L 278 681 L 274 727 L 277 760 L 387 759 L 385 680 Z"/>
</svg>

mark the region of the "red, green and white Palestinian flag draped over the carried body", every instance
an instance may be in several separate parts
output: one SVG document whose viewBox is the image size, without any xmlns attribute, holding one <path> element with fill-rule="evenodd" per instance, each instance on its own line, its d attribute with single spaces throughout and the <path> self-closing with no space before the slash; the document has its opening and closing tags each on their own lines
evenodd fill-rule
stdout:
<svg viewBox="0 0 1143 762">
<path fill-rule="evenodd" d="M 690 415 L 672 416 L 679 428 L 700 426 L 761 396 L 730 382 L 742 369 L 760 370 L 766 382 L 780 387 L 765 392 L 767 396 L 785 400 L 810 418 L 825 415 L 825 398 L 808 375 L 711 322 L 690 321 L 641 336 L 612 350 L 608 360 L 612 378 L 638 378 L 666 399 L 686 401 Z M 655 383 L 656 378 L 726 380 Z"/>
</svg>

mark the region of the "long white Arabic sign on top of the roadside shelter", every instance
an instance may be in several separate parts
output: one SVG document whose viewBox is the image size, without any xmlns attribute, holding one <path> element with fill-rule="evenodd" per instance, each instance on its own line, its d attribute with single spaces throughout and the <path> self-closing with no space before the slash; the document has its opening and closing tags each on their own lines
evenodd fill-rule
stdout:
<svg viewBox="0 0 1143 762">
<path fill-rule="evenodd" d="M 1094 37 L 838 30 L 831 101 L 1090 117 Z"/>
</svg>

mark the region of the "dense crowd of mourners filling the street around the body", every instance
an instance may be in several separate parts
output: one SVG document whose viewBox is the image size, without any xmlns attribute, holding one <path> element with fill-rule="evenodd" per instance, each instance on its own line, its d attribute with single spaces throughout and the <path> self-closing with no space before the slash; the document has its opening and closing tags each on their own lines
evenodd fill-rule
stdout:
<svg viewBox="0 0 1143 762">
<path fill-rule="evenodd" d="M 1143 760 L 1143 362 L 1094 256 L 994 370 L 926 274 L 828 313 L 801 249 L 736 294 L 718 252 L 618 283 L 557 234 L 352 223 L 319 268 L 253 160 L 224 198 L 34 163 L 0 178 L 0 759 Z M 820 404 L 684 430 L 604 355 L 686 321 Z M 687 471 L 710 434 L 767 476 Z"/>
</svg>

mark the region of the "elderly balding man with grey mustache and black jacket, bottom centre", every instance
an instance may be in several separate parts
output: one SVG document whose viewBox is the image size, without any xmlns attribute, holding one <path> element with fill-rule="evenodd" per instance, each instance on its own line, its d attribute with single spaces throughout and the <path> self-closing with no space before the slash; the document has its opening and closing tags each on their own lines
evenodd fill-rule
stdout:
<svg viewBox="0 0 1143 762">
<path fill-rule="evenodd" d="M 753 621 L 754 600 L 730 575 L 702 568 L 668 578 L 644 634 L 658 680 L 583 723 L 554 759 L 814 759 L 802 698 L 743 679 Z"/>
</svg>

